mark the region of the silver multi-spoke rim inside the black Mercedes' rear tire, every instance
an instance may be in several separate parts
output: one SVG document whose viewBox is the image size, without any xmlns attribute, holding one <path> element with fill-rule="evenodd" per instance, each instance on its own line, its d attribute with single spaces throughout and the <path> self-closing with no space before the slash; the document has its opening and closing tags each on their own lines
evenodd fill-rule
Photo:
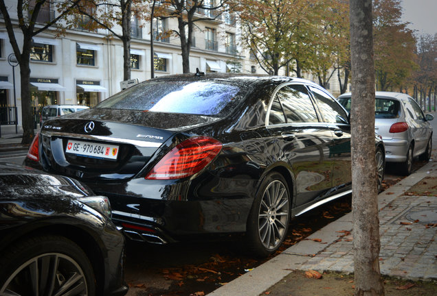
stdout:
<svg viewBox="0 0 437 296">
<path fill-rule="evenodd" d="M 289 195 L 278 180 L 267 186 L 258 214 L 258 233 L 266 249 L 275 249 L 285 236 L 289 219 Z"/>
</svg>

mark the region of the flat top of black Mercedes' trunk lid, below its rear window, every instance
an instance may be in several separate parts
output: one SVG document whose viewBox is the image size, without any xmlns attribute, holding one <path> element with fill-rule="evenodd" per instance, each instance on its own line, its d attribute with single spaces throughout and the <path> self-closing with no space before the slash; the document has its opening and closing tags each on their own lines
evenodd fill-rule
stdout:
<svg viewBox="0 0 437 296">
<path fill-rule="evenodd" d="M 142 125 L 162 130 L 185 130 L 187 128 L 217 121 L 220 118 L 197 114 L 179 114 L 148 112 L 140 110 L 120 110 L 107 108 L 91 108 L 82 112 L 71 113 L 62 119 L 85 119 L 90 121 L 111 121 Z"/>
</svg>

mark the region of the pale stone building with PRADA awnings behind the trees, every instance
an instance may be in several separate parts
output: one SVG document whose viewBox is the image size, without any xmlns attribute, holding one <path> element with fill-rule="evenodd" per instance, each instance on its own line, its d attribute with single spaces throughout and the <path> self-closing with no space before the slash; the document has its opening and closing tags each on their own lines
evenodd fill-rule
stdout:
<svg viewBox="0 0 437 296">
<path fill-rule="evenodd" d="M 10 8 L 8 11 L 12 21 L 18 23 L 16 1 L 5 2 Z M 38 14 L 36 27 L 42 27 L 55 16 L 55 9 L 47 1 Z M 234 14 L 225 12 L 216 16 L 212 10 L 197 10 L 195 16 L 206 19 L 197 21 L 194 26 L 190 72 L 194 73 L 197 68 L 205 73 L 264 72 L 242 47 L 240 28 Z M 89 21 L 82 16 L 82 23 Z M 144 20 L 133 17 L 131 24 L 131 79 L 138 79 L 139 82 L 150 79 L 152 54 L 155 77 L 182 73 L 179 37 L 164 34 L 168 29 L 178 27 L 175 18 L 154 19 L 153 32 L 150 32 L 150 23 Z M 55 29 L 47 29 L 33 38 L 30 89 L 34 107 L 52 104 L 92 107 L 122 90 L 122 41 L 111 36 L 107 29 L 90 31 L 84 27 L 78 25 L 76 29 L 67 29 L 62 36 Z M 0 14 L 0 121 L 2 125 L 10 125 L 13 117 L 10 114 L 11 107 L 16 106 L 18 124 L 21 125 L 19 66 L 13 70 L 8 63 L 8 56 L 13 51 L 4 28 L 3 16 Z M 121 27 L 115 27 L 115 30 L 122 34 Z M 22 47 L 23 36 L 18 26 L 14 34 Z M 153 53 L 150 51 L 150 38 L 153 38 Z"/>
</svg>

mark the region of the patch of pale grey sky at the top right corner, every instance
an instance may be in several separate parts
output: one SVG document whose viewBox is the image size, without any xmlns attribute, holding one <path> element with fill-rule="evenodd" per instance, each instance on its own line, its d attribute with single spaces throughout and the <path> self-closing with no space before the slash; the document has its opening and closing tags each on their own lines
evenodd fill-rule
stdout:
<svg viewBox="0 0 437 296">
<path fill-rule="evenodd" d="M 402 0 L 402 21 L 418 34 L 437 33 L 437 0 Z"/>
</svg>

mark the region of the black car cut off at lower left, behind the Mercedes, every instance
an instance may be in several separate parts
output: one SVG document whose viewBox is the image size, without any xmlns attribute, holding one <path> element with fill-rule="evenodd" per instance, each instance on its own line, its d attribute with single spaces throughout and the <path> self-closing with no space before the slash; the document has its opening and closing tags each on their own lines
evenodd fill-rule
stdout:
<svg viewBox="0 0 437 296">
<path fill-rule="evenodd" d="M 0 295 L 125 295 L 110 215 L 76 180 L 0 162 Z"/>
</svg>

